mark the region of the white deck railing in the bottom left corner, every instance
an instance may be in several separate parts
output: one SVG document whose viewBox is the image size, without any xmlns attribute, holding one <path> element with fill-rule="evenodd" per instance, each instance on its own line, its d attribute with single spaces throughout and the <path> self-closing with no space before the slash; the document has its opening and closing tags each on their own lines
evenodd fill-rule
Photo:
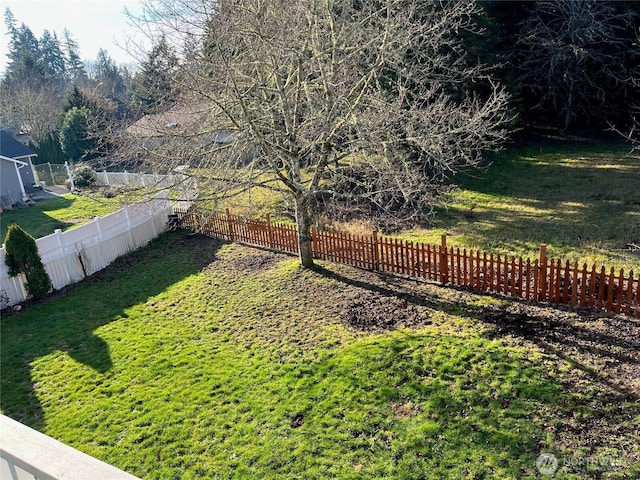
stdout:
<svg viewBox="0 0 640 480">
<path fill-rule="evenodd" d="M 2 480 L 138 479 L 4 415 L 0 415 L 0 478 Z"/>
</svg>

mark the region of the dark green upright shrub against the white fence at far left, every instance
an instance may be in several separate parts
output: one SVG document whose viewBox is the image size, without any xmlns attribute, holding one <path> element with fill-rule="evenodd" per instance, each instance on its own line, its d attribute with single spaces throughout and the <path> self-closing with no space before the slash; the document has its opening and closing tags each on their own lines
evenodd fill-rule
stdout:
<svg viewBox="0 0 640 480">
<path fill-rule="evenodd" d="M 12 277 L 24 273 L 27 293 L 33 298 L 41 298 L 51 291 L 51 279 L 44 269 L 35 239 L 20 225 L 9 225 L 4 238 L 5 263 Z"/>
</svg>

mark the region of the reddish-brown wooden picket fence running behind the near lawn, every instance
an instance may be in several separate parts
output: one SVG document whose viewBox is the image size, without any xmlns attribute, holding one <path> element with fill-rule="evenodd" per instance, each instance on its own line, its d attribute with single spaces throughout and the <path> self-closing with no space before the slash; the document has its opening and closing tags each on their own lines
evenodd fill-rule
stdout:
<svg viewBox="0 0 640 480">
<path fill-rule="evenodd" d="M 184 227 L 222 240 L 298 252 L 296 227 L 266 220 L 198 212 L 176 212 Z M 366 270 L 406 275 L 532 302 L 581 305 L 640 318 L 640 275 L 633 270 L 579 267 L 549 259 L 546 245 L 539 258 L 501 256 L 478 250 L 399 240 L 378 235 L 312 230 L 314 258 Z"/>
</svg>

